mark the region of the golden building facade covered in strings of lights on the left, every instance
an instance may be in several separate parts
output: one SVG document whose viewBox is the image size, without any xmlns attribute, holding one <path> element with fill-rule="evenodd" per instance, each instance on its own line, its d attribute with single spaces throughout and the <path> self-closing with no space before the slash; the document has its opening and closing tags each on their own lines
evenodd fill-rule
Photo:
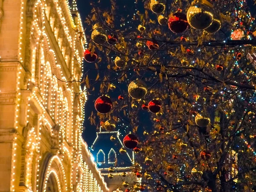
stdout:
<svg viewBox="0 0 256 192">
<path fill-rule="evenodd" d="M 71 3 L 0 0 L 0 192 L 109 191 L 81 138 L 84 42 Z"/>
</svg>

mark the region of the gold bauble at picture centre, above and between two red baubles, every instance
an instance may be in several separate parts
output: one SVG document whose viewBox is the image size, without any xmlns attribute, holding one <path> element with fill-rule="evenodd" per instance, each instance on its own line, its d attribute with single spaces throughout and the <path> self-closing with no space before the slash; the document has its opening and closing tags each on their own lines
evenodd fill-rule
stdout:
<svg viewBox="0 0 256 192">
<path fill-rule="evenodd" d="M 134 99 L 142 99 L 147 93 L 147 85 L 140 79 L 132 81 L 128 86 L 128 93 Z"/>
</svg>

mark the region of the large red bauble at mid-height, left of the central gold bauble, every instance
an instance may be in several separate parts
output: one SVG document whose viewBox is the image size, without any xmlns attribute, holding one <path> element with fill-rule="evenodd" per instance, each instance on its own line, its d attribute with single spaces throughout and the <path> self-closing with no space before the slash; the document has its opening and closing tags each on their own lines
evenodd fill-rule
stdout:
<svg viewBox="0 0 256 192">
<path fill-rule="evenodd" d="M 111 111 L 113 104 L 109 97 L 100 96 L 98 99 L 96 99 L 94 106 L 99 113 L 105 114 Z"/>
</svg>

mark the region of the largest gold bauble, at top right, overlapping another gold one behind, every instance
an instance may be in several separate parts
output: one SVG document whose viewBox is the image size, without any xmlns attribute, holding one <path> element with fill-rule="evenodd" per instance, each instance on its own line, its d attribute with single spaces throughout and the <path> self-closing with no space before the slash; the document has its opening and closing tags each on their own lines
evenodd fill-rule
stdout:
<svg viewBox="0 0 256 192">
<path fill-rule="evenodd" d="M 204 3 L 195 3 L 187 12 L 189 25 L 195 29 L 206 29 L 213 20 L 213 10 Z"/>
</svg>

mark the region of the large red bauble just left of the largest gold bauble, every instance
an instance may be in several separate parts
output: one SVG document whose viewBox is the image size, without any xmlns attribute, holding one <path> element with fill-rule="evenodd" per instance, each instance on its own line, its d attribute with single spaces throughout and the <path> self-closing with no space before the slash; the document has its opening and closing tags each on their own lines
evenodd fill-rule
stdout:
<svg viewBox="0 0 256 192">
<path fill-rule="evenodd" d="M 185 32 L 189 24 L 184 13 L 176 12 L 169 17 L 169 29 L 174 33 Z"/>
</svg>

